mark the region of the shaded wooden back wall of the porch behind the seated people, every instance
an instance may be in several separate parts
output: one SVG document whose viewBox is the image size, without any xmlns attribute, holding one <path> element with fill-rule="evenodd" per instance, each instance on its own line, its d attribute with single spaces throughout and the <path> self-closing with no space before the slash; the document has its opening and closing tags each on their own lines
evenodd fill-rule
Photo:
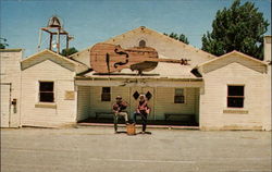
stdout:
<svg viewBox="0 0 272 172">
<path fill-rule="evenodd" d="M 129 115 L 132 115 L 137 106 L 137 100 L 135 100 L 132 95 L 135 90 L 139 90 L 140 94 L 149 89 L 148 87 L 143 87 L 141 89 L 136 89 L 135 87 L 111 87 L 111 101 L 101 101 L 102 87 L 78 86 L 78 115 L 81 119 L 86 119 L 87 113 L 94 118 L 96 112 L 112 111 L 112 105 L 115 102 L 116 96 L 122 96 L 123 99 L 131 105 L 127 111 L 131 113 Z M 185 103 L 174 103 L 175 88 L 158 87 L 152 89 L 152 98 L 149 105 L 151 106 L 154 116 L 150 116 L 150 120 L 164 120 L 164 113 L 197 114 L 196 118 L 198 119 L 199 110 L 197 107 L 198 102 L 196 101 L 198 101 L 197 94 L 199 88 L 185 88 Z M 89 96 L 86 96 L 88 94 Z M 86 109 L 88 102 L 89 110 Z"/>
</svg>

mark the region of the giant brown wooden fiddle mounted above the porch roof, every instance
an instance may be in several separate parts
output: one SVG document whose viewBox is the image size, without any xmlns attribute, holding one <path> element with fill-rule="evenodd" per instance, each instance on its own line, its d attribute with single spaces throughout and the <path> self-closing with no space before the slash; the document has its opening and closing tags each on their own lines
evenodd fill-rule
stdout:
<svg viewBox="0 0 272 172">
<path fill-rule="evenodd" d="M 151 47 L 123 49 L 121 46 L 99 42 L 90 49 L 90 66 L 98 73 L 113 73 L 123 69 L 137 70 L 139 73 L 153 70 L 158 62 L 188 65 L 186 59 L 159 59 Z"/>
</svg>

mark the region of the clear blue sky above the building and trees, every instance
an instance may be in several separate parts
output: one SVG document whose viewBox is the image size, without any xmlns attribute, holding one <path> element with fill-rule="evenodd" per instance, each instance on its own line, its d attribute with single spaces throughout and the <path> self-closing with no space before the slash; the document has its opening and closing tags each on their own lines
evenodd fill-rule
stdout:
<svg viewBox="0 0 272 172">
<path fill-rule="evenodd" d="M 185 34 L 201 48 L 201 37 L 211 30 L 218 10 L 232 0 L 0 0 L 0 35 L 9 48 L 37 52 L 39 28 L 57 14 L 64 29 L 75 37 L 71 47 L 83 50 L 96 42 L 139 26 L 160 33 Z M 250 0 L 271 23 L 271 0 Z M 244 3 L 245 0 L 242 0 Z M 271 26 L 267 35 L 271 35 Z M 44 34 L 44 39 L 47 34 Z"/>
</svg>

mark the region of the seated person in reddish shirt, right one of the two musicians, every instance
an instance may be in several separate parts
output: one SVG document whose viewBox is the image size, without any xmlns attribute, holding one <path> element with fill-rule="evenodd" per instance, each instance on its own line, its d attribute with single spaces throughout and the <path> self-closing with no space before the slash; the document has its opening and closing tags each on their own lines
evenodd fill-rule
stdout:
<svg viewBox="0 0 272 172">
<path fill-rule="evenodd" d="M 139 96 L 139 103 L 138 107 L 136 109 L 136 112 L 134 112 L 133 114 L 133 122 L 134 124 L 136 124 L 136 116 L 140 115 L 141 116 L 141 122 L 143 122 L 143 128 L 141 128 L 141 133 L 146 133 L 146 127 L 147 127 L 147 116 L 150 112 L 150 108 L 147 105 L 147 99 L 145 95 L 140 95 Z"/>
</svg>

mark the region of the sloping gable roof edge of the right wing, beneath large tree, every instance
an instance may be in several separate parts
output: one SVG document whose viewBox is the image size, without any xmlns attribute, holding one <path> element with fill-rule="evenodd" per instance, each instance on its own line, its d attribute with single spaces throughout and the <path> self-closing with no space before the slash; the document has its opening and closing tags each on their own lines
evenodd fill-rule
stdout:
<svg viewBox="0 0 272 172">
<path fill-rule="evenodd" d="M 268 66 L 268 64 L 261 60 L 258 60 L 239 51 L 233 50 L 232 52 L 225 53 L 217 59 L 203 62 L 197 65 L 195 69 L 198 69 L 200 73 L 209 73 L 211 71 L 214 71 L 233 62 L 240 63 L 247 67 L 250 67 L 261 73 L 265 72 Z"/>
</svg>

